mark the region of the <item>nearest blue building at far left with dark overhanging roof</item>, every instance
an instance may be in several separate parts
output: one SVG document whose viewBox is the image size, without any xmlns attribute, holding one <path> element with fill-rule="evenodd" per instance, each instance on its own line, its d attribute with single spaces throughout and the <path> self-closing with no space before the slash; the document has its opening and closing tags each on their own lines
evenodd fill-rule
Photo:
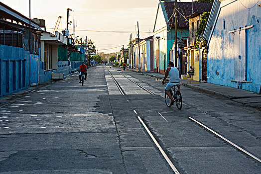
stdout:
<svg viewBox="0 0 261 174">
<path fill-rule="evenodd" d="M 29 18 L 0 2 L 0 96 L 38 84 L 42 30 L 33 21 L 29 30 Z"/>
</svg>

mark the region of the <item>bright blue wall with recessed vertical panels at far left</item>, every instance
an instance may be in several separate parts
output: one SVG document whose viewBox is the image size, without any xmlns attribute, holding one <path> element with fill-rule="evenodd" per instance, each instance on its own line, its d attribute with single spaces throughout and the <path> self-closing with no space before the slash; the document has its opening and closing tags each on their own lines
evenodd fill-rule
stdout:
<svg viewBox="0 0 261 174">
<path fill-rule="evenodd" d="M 0 45 L 0 96 L 29 87 L 29 59 L 23 48 Z"/>
</svg>

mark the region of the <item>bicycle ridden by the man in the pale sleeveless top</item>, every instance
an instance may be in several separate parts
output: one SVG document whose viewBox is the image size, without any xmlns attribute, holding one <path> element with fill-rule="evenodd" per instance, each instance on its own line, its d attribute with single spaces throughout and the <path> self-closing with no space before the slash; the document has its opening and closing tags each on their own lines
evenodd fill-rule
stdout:
<svg viewBox="0 0 261 174">
<path fill-rule="evenodd" d="M 174 86 L 174 88 L 172 87 L 170 90 L 169 90 L 172 98 L 175 100 L 176 102 L 176 106 L 177 108 L 180 110 L 182 108 L 182 96 L 181 96 L 181 93 L 180 91 L 176 90 L 176 86 Z M 171 107 L 171 99 L 170 97 L 167 95 L 167 93 L 165 92 L 165 103 L 168 107 Z"/>
</svg>

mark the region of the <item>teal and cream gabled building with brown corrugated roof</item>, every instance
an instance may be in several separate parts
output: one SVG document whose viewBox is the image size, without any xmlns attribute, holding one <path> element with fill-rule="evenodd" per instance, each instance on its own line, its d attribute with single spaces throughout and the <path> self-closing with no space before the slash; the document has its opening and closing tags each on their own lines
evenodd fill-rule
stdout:
<svg viewBox="0 0 261 174">
<path fill-rule="evenodd" d="M 153 29 L 154 35 L 154 72 L 165 73 L 171 58 L 171 50 L 175 41 L 175 20 L 173 9 L 175 1 L 159 1 Z M 189 25 L 185 17 L 193 12 L 204 12 L 211 8 L 210 3 L 202 2 L 177 2 L 177 37 L 189 37 Z M 178 48 L 177 48 L 178 49 Z M 180 57 L 183 57 L 181 55 Z M 176 61 L 177 60 L 177 61 Z M 173 58 L 175 65 L 180 65 L 180 60 Z M 176 61 L 176 62 L 175 62 Z M 180 68 L 180 67 L 179 67 Z"/>
</svg>

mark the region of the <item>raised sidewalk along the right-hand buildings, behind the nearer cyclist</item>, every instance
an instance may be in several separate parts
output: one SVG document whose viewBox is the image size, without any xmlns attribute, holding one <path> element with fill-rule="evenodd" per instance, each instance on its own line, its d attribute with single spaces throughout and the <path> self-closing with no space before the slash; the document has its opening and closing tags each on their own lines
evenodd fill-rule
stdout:
<svg viewBox="0 0 261 174">
<path fill-rule="evenodd" d="M 163 79 L 164 75 L 152 72 L 139 72 L 138 69 L 127 69 L 132 72 L 140 73 L 157 79 Z M 168 79 L 167 79 L 168 81 Z M 197 82 L 192 80 L 180 80 L 184 87 L 190 87 L 199 91 L 229 98 L 238 103 L 261 109 L 261 95 L 243 89 L 233 87 L 224 87 L 206 82 Z"/>
</svg>

